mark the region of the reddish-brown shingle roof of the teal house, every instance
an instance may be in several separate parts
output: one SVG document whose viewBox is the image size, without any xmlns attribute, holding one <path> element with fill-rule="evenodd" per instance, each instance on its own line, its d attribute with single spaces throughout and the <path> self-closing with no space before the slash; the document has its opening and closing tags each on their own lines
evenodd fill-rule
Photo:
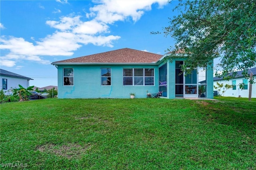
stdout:
<svg viewBox="0 0 256 170">
<path fill-rule="evenodd" d="M 113 51 L 87 55 L 62 61 L 59 63 L 156 63 L 162 55 L 139 51 L 136 49 L 123 48 Z"/>
</svg>

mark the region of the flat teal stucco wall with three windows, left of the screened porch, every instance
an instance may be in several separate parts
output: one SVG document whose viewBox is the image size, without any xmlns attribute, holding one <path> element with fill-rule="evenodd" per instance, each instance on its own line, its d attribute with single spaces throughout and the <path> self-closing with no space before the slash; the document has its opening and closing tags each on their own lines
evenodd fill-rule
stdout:
<svg viewBox="0 0 256 170">
<path fill-rule="evenodd" d="M 74 85 L 63 85 L 63 68 L 74 69 Z M 100 68 L 111 68 L 111 85 L 101 85 Z M 124 86 L 123 68 L 154 68 L 154 86 Z M 155 65 L 58 65 L 58 98 L 145 98 L 158 92 L 158 67 Z"/>
</svg>

